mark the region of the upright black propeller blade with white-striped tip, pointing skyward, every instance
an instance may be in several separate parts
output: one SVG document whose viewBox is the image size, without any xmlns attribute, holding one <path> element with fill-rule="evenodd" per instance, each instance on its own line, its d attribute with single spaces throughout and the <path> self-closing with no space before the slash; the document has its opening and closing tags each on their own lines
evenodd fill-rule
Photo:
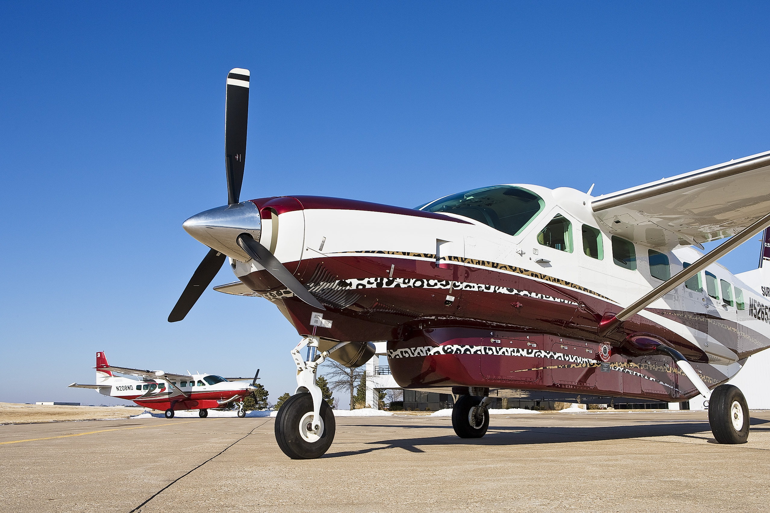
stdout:
<svg viewBox="0 0 770 513">
<path fill-rule="evenodd" d="M 234 68 L 227 74 L 225 107 L 225 169 L 227 203 L 240 200 L 246 163 L 246 128 L 249 122 L 249 70 Z"/>
</svg>

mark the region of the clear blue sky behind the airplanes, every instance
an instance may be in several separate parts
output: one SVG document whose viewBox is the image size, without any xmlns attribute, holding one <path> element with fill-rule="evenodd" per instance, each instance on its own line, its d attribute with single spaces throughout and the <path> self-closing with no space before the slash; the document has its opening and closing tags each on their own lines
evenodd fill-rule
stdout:
<svg viewBox="0 0 770 513">
<path fill-rule="evenodd" d="M 251 70 L 244 198 L 415 206 L 495 183 L 609 193 L 770 149 L 767 3 L 3 2 L 0 401 L 102 400 L 94 354 L 293 391 L 296 331 L 207 291 L 225 76 Z M 752 241 L 723 263 L 755 267 Z M 215 284 L 233 281 L 228 267 Z M 102 401 L 103 402 L 103 401 Z"/>
</svg>

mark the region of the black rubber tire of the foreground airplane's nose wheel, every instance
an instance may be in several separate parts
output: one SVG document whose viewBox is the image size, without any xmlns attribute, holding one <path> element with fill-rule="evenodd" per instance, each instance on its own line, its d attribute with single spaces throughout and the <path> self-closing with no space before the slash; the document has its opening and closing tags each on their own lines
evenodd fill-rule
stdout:
<svg viewBox="0 0 770 513">
<path fill-rule="evenodd" d="M 320 458 L 334 441 L 336 422 L 334 412 L 326 401 L 321 404 L 321 418 L 323 419 L 323 434 L 314 441 L 309 442 L 300 434 L 300 421 L 302 417 L 313 411 L 313 397 L 310 392 L 295 394 L 286 399 L 276 416 L 276 441 L 283 454 L 293 460 L 311 460 Z"/>
</svg>

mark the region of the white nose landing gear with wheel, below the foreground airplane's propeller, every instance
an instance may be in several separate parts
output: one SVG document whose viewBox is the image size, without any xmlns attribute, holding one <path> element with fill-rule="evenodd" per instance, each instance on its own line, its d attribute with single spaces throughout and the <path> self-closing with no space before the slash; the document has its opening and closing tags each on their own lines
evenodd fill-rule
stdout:
<svg viewBox="0 0 770 513">
<path fill-rule="evenodd" d="M 334 413 L 323 401 L 321 389 L 316 384 L 316 370 L 330 353 L 347 343 L 340 342 L 330 350 L 314 357 L 309 354 L 308 360 L 303 360 L 300 354 L 303 348 L 309 346 L 313 348 L 309 353 L 315 354 L 318 340 L 318 337 L 305 337 L 291 351 L 297 368 L 296 392 L 281 405 L 276 416 L 278 447 L 295 460 L 323 456 L 332 444 L 336 430 Z"/>
</svg>

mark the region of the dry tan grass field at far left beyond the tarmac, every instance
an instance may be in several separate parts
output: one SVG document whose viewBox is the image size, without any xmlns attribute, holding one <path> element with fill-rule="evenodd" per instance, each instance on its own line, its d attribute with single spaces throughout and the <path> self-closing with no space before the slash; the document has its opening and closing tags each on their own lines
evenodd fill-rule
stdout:
<svg viewBox="0 0 770 513">
<path fill-rule="evenodd" d="M 138 415 L 142 411 L 142 408 L 119 406 L 48 406 L 45 404 L 0 403 L 0 424 L 128 418 L 129 415 Z"/>
</svg>

